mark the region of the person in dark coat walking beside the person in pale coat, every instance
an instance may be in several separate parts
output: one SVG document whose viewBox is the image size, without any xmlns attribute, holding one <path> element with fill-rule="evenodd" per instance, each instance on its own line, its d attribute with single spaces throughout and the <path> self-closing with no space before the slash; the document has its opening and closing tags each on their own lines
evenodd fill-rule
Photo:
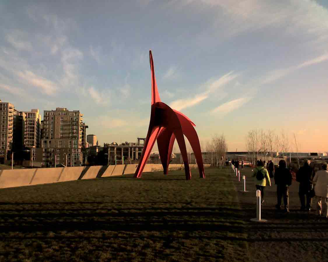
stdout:
<svg viewBox="0 0 328 262">
<path fill-rule="evenodd" d="M 299 168 L 296 174 L 296 181 L 299 182 L 299 200 L 301 202 L 301 210 L 311 210 L 312 197 L 310 197 L 310 190 L 312 188 L 312 179 L 314 177 L 314 170 L 310 167 L 310 160 L 306 159 L 304 165 Z M 306 196 L 306 205 L 305 205 Z"/>
</svg>

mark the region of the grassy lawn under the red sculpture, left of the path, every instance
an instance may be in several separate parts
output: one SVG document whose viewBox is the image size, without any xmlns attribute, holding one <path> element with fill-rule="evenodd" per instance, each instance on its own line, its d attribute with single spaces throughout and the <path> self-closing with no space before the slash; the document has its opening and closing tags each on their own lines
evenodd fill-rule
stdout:
<svg viewBox="0 0 328 262">
<path fill-rule="evenodd" d="M 0 190 L 0 261 L 248 261 L 229 169 Z"/>
</svg>

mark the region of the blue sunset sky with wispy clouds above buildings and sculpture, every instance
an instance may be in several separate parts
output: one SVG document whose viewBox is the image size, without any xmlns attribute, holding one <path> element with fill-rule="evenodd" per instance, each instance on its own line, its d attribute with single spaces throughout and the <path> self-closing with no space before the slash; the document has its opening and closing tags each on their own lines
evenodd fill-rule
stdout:
<svg viewBox="0 0 328 262">
<path fill-rule="evenodd" d="M 245 150 L 255 128 L 328 151 L 328 1 L 3 1 L 0 99 L 80 110 L 100 144 L 148 130 L 162 102 Z"/>
</svg>

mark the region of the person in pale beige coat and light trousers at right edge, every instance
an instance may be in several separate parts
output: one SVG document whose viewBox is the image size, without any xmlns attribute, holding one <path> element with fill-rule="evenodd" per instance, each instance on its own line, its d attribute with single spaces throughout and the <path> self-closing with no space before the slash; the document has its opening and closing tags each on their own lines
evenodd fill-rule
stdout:
<svg viewBox="0 0 328 262">
<path fill-rule="evenodd" d="M 322 165 L 322 170 L 317 171 L 313 178 L 314 192 L 316 193 L 317 215 L 328 217 L 328 171 L 327 163 Z"/>
</svg>

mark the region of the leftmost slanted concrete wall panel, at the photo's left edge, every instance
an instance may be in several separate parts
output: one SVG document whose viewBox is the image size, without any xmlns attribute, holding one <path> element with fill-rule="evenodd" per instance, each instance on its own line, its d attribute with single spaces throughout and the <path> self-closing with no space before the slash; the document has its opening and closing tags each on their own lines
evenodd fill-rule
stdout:
<svg viewBox="0 0 328 262">
<path fill-rule="evenodd" d="M 36 168 L 0 171 L 0 188 L 27 186 L 31 182 Z"/>
</svg>

